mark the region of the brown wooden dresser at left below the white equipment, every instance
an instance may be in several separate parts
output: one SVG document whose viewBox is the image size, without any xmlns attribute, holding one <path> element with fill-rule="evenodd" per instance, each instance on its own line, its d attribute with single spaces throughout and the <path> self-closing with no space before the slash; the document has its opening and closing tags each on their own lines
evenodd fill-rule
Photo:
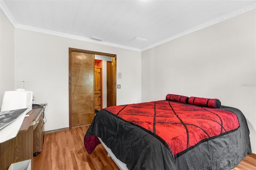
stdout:
<svg viewBox="0 0 256 170">
<path fill-rule="evenodd" d="M 43 108 L 35 108 L 27 113 L 18 135 L 0 143 L 0 170 L 8 170 L 10 164 L 31 159 L 33 153 L 42 151 L 44 144 Z M 37 154 L 36 154 L 37 155 Z"/>
</svg>

